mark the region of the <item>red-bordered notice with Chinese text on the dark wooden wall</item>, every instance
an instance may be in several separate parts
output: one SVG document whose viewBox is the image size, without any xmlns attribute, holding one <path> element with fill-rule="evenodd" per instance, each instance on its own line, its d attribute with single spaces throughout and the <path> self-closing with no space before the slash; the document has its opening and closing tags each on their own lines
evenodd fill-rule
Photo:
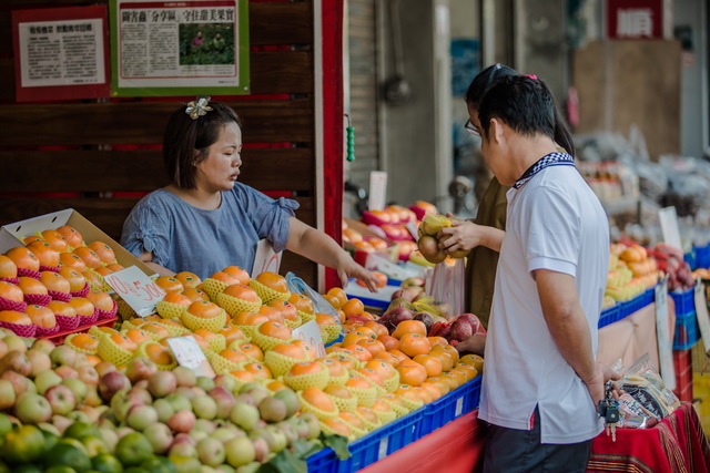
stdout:
<svg viewBox="0 0 710 473">
<path fill-rule="evenodd" d="M 106 7 L 12 11 L 18 102 L 110 95 Z"/>
</svg>

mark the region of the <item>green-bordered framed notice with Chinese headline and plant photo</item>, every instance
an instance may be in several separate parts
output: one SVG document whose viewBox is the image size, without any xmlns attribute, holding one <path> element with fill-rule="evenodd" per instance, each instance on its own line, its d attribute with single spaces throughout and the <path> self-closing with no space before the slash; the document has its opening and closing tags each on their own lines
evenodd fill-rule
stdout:
<svg viewBox="0 0 710 473">
<path fill-rule="evenodd" d="M 111 95 L 247 94 L 247 0 L 111 0 Z"/>
</svg>

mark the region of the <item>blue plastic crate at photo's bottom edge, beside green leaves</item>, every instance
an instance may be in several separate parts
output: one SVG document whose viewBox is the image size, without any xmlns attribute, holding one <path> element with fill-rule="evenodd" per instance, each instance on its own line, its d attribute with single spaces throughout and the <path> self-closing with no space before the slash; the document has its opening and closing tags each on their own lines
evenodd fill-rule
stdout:
<svg viewBox="0 0 710 473">
<path fill-rule="evenodd" d="M 352 473 L 368 466 L 390 453 L 407 446 L 420 438 L 419 426 L 425 408 L 417 409 L 379 429 L 357 439 L 348 445 L 351 457 L 338 460 L 332 449 L 326 448 L 308 456 L 310 472 Z"/>
</svg>

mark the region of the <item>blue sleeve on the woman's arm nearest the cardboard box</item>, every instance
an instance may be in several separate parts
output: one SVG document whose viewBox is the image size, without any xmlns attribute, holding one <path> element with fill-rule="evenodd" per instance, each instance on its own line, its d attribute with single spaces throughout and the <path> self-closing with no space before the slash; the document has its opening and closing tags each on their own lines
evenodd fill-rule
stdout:
<svg viewBox="0 0 710 473">
<path fill-rule="evenodd" d="M 123 224 L 121 245 L 135 257 L 153 254 L 153 263 L 168 266 L 170 259 L 170 224 L 162 206 L 141 200 Z"/>
</svg>

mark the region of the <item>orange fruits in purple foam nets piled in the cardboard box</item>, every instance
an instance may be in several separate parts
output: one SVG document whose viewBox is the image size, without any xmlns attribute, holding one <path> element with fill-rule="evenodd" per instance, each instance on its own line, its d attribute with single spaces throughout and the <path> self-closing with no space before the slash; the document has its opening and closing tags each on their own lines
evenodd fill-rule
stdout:
<svg viewBox="0 0 710 473">
<path fill-rule="evenodd" d="M 0 255 L 0 326 L 41 337 L 115 316 L 101 278 L 123 268 L 109 245 L 87 244 L 69 225 L 23 243 Z"/>
</svg>

